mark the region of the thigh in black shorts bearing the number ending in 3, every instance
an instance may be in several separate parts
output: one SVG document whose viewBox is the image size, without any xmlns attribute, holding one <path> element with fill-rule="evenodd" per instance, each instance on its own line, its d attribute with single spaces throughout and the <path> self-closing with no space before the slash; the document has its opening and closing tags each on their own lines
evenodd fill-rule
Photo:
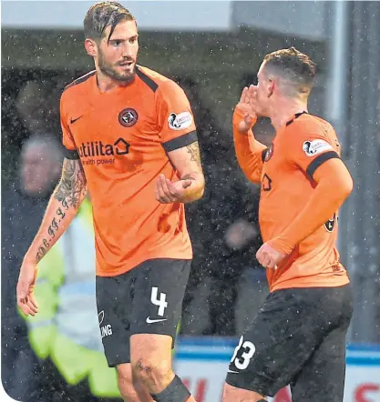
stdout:
<svg viewBox="0 0 380 402">
<path fill-rule="evenodd" d="M 321 337 L 312 306 L 303 305 L 297 289 L 273 292 L 241 336 L 226 382 L 273 397 L 291 382 Z"/>
</svg>

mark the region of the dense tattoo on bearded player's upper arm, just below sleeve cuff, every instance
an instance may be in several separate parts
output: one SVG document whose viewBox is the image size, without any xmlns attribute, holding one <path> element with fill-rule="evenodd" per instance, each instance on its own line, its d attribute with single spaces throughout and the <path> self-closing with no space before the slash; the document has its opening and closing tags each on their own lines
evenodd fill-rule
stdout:
<svg viewBox="0 0 380 402">
<path fill-rule="evenodd" d="M 62 177 L 56 187 L 55 197 L 68 205 L 78 207 L 87 192 L 87 182 L 80 160 L 65 159 Z"/>
</svg>

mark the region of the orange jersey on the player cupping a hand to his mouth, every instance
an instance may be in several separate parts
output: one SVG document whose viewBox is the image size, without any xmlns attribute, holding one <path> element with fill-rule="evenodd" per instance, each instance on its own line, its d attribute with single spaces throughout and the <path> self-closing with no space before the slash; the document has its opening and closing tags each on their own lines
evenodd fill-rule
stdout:
<svg viewBox="0 0 380 402">
<path fill-rule="evenodd" d="M 262 151 L 259 220 L 264 242 L 280 236 L 303 209 L 316 186 L 313 173 L 318 166 L 339 156 L 333 127 L 319 117 L 298 114 L 278 130 L 272 146 Z M 337 219 L 336 212 L 295 246 L 278 269 L 267 269 L 271 291 L 349 282 L 335 246 Z"/>
</svg>

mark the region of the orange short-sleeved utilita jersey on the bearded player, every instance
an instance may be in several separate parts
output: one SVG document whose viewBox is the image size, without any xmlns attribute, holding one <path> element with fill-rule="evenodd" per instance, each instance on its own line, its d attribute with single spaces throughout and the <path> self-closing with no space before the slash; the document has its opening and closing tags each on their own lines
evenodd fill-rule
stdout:
<svg viewBox="0 0 380 402">
<path fill-rule="evenodd" d="M 67 157 L 80 157 L 87 177 L 97 275 L 151 258 L 191 259 L 183 204 L 155 199 L 159 174 L 180 178 L 167 152 L 197 140 L 180 86 L 137 66 L 131 84 L 101 93 L 94 71 L 67 85 L 60 113 Z"/>
</svg>

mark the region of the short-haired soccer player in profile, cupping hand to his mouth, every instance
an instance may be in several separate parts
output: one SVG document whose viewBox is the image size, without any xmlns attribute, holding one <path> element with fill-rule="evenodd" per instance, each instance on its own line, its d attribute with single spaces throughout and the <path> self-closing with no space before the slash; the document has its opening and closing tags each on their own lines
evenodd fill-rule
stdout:
<svg viewBox="0 0 380 402">
<path fill-rule="evenodd" d="M 349 277 L 335 247 L 337 211 L 353 188 L 334 129 L 308 114 L 315 65 L 293 47 L 266 55 L 233 116 L 236 155 L 261 183 L 259 220 L 271 293 L 235 348 L 224 402 L 258 402 L 291 385 L 293 402 L 343 400 Z M 252 136 L 272 120 L 269 147 Z"/>
</svg>

